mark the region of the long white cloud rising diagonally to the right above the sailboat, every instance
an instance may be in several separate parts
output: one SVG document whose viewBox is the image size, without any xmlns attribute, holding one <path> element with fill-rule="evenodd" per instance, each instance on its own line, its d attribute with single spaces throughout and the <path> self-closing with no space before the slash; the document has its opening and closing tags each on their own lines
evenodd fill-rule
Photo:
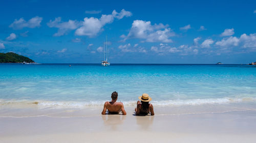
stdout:
<svg viewBox="0 0 256 143">
<path fill-rule="evenodd" d="M 132 13 L 129 11 L 125 11 L 124 9 L 121 10 L 120 13 L 117 13 L 115 10 L 112 12 L 112 14 L 109 15 L 101 15 L 101 17 L 95 18 L 95 17 L 86 17 L 83 19 L 82 26 L 79 27 L 75 34 L 79 36 L 96 36 L 99 32 L 103 31 L 103 26 L 107 23 L 112 23 L 114 21 L 114 18 L 121 19 L 124 16 L 128 17 L 131 16 Z"/>
</svg>

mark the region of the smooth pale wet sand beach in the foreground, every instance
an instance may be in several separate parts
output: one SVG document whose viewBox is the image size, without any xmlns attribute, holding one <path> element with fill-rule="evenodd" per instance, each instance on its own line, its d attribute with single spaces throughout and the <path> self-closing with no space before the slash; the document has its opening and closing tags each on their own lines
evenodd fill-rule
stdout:
<svg viewBox="0 0 256 143">
<path fill-rule="evenodd" d="M 36 111 L 36 110 L 34 110 Z M 31 110 L 31 112 L 34 112 Z M 0 118 L 0 142 L 255 142 L 256 111 L 100 115 L 101 108 Z M 77 115 L 84 115 L 78 117 Z M 33 113 L 31 113 L 32 115 Z"/>
</svg>

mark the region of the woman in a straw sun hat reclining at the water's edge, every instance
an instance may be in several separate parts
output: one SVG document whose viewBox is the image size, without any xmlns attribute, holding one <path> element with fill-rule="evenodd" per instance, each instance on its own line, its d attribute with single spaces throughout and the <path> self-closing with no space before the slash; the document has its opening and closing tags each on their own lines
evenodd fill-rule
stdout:
<svg viewBox="0 0 256 143">
<path fill-rule="evenodd" d="M 152 100 L 148 94 L 144 93 L 139 97 L 141 101 L 137 102 L 137 108 L 135 108 L 136 115 L 147 115 L 151 113 L 151 115 L 155 115 L 153 105 L 149 102 Z"/>
</svg>

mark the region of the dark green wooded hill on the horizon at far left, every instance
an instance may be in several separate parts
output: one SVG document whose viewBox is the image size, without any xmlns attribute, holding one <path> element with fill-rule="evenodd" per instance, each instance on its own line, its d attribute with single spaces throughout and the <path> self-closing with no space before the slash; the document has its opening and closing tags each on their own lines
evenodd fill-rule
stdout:
<svg viewBox="0 0 256 143">
<path fill-rule="evenodd" d="M 26 56 L 19 55 L 13 52 L 0 53 L 0 63 L 34 63 L 33 60 Z"/>
</svg>

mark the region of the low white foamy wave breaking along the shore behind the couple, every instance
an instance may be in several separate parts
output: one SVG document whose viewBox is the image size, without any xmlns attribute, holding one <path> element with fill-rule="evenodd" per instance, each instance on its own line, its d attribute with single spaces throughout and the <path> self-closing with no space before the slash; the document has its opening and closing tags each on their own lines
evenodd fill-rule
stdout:
<svg viewBox="0 0 256 143">
<path fill-rule="evenodd" d="M 237 102 L 254 102 L 256 98 L 210 98 L 189 100 L 152 101 L 154 106 L 183 106 L 203 104 L 230 104 Z M 39 108 L 86 108 L 103 106 L 105 101 L 47 101 L 47 100 L 1 100 L 1 106 L 35 106 Z M 137 101 L 122 101 L 124 106 L 136 106 Z"/>
</svg>

